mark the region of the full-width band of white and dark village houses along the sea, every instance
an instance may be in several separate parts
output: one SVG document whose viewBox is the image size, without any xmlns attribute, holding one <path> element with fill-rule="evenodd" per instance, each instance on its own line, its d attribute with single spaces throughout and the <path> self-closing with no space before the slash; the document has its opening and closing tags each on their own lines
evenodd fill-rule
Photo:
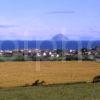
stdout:
<svg viewBox="0 0 100 100">
<path fill-rule="evenodd" d="M 30 50 L 0 50 L 0 56 L 47 56 L 47 57 L 60 57 L 68 55 L 100 55 L 100 47 L 96 49 L 86 49 L 81 50 L 39 50 L 39 49 L 30 49 Z"/>
</svg>

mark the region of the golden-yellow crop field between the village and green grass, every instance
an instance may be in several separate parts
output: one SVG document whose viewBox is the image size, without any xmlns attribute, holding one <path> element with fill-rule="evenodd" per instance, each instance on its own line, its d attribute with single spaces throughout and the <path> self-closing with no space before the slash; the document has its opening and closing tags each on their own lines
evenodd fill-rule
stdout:
<svg viewBox="0 0 100 100">
<path fill-rule="evenodd" d="M 100 75 L 97 62 L 0 62 L 0 87 L 31 85 L 36 80 L 45 84 L 91 82 Z"/>
</svg>

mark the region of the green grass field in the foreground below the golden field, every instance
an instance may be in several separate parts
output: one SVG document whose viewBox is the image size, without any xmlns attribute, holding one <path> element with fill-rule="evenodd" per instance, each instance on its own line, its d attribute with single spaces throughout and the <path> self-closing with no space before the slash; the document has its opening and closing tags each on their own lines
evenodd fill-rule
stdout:
<svg viewBox="0 0 100 100">
<path fill-rule="evenodd" d="M 100 100 L 100 84 L 0 89 L 0 100 Z"/>
</svg>

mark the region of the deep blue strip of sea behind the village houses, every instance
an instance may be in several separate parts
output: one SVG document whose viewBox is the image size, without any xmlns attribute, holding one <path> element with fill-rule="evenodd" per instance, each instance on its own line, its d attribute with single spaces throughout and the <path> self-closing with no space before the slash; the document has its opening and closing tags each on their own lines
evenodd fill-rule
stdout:
<svg viewBox="0 0 100 100">
<path fill-rule="evenodd" d="M 100 41 L 0 41 L 0 50 L 21 50 L 21 49 L 41 49 L 41 50 L 79 50 L 81 48 L 92 49 L 100 47 Z"/>
</svg>

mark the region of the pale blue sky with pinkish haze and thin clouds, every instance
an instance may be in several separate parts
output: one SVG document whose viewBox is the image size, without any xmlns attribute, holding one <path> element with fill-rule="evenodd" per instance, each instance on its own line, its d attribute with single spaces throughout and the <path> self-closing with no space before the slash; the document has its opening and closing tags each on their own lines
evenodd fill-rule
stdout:
<svg viewBox="0 0 100 100">
<path fill-rule="evenodd" d="M 100 0 L 0 0 L 0 40 L 100 40 Z"/>
</svg>

